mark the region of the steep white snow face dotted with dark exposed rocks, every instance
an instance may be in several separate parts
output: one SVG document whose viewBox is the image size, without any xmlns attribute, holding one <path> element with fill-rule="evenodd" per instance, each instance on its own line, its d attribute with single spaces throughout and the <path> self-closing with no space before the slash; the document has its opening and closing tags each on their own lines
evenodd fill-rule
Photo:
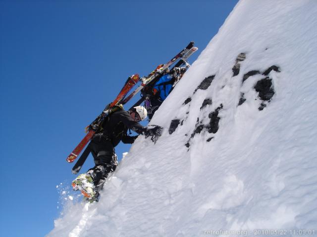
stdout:
<svg viewBox="0 0 317 237">
<path fill-rule="evenodd" d="M 316 26 L 315 0 L 240 1 L 152 119 L 157 144 L 140 136 L 48 236 L 316 229 Z"/>
</svg>

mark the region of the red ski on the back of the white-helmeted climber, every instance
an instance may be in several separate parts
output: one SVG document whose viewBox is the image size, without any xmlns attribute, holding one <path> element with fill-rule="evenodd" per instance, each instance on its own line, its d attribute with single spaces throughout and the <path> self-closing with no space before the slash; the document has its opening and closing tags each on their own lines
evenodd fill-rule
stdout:
<svg viewBox="0 0 317 237">
<path fill-rule="evenodd" d="M 131 90 L 131 88 L 138 82 L 140 79 L 138 74 L 132 75 L 127 79 L 124 86 L 122 87 L 121 91 L 119 92 L 118 96 L 115 98 L 115 100 L 109 104 L 105 110 L 101 113 L 100 116 L 98 116 L 87 128 L 88 133 L 86 136 L 81 140 L 81 142 L 77 145 L 77 147 L 69 154 L 69 156 L 66 158 L 66 161 L 71 163 L 73 162 L 78 155 L 81 153 L 81 151 L 84 149 L 84 147 L 87 145 L 87 143 L 92 139 L 92 137 L 95 135 L 96 131 L 98 130 L 99 126 L 103 122 L 104 118 L 106 118 L 113 107 L 117 104 L 120 104 L 121 100 L 126 96 L 126 94 Z"/>
</svg>

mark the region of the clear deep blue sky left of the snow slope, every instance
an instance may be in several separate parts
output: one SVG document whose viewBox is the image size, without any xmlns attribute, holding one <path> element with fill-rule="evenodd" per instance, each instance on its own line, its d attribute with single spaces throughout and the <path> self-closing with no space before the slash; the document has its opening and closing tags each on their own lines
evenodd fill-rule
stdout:
<svg viewBox="0 0 317 237">
<path fill-rule="evenodd" d="M 147 75 L 191 40 L 193 62 L 236 2 L 0 0 L 0 236 L 48 234 L 84 127 L 129 75 Z M 129 148 L 118 145 L 118 157 Z M 91 166 L 90 157 L 83 171 Z"/>
</svg>

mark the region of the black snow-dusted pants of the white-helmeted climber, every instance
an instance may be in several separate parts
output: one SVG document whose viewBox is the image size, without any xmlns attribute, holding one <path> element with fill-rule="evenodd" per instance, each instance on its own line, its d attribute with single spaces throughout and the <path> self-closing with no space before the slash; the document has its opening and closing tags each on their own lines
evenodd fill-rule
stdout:
<svg viewBox="0 0 317 237">
<path fill-rule="evenodd" d="M 113 172 L 117 166 L 117 158 L 114 148 L 109 139 L 104 136 L 96 136 L 89 144 L 94 157 L 95 166 L 88 170 L 94 180 L 97 189 L 102 189 L 106 177 Z"/>
</svg>

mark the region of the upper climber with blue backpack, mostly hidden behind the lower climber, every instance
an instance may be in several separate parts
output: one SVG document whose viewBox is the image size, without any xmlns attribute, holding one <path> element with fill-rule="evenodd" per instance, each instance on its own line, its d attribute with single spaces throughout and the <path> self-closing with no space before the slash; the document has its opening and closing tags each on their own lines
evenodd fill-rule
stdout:
<svg viewBox="0 0 317 237">
<path fill-rule="evenodd" d="M 145 98 L 144 106 L 148 110 L 148 116 L 152 119 L 154 113 L 159 109 L 169 93 L 173 90 L 178 81 L 183 77 L 190 64 L 184 61 L 185 67 L 176 67 L 163 74 L 153 87 L 145 86 L 141 90 Z"/>
</svg>

